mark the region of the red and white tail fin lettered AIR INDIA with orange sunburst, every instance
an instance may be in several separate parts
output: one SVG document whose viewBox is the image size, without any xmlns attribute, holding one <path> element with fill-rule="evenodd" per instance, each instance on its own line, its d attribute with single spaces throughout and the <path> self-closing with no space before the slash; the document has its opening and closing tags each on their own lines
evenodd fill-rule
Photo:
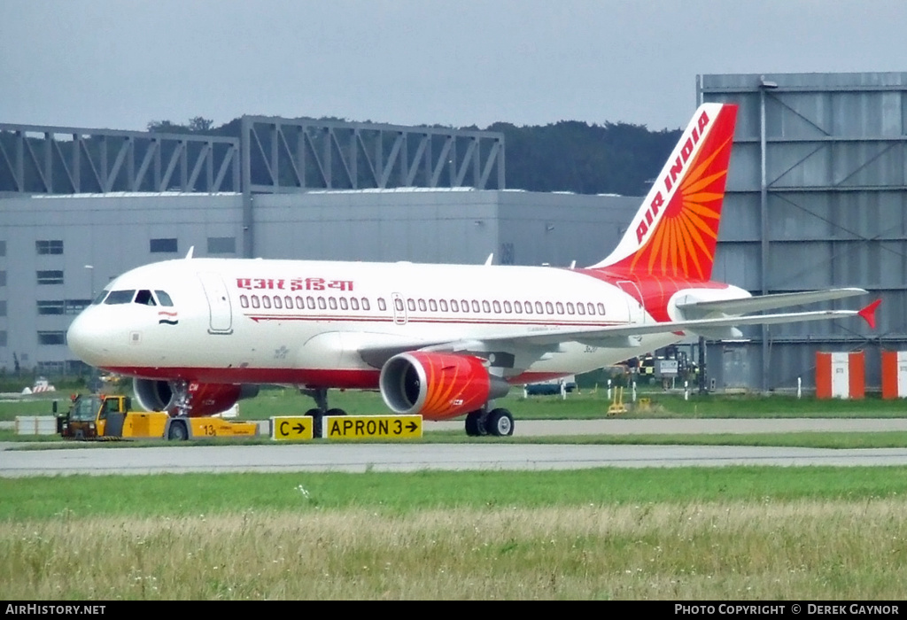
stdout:
<svg viewBox="0 0 907 620">
<path fill-rule="evenodd" d="M 699 107 L 618 247 L 592 268 L 711 277 L 736 110 L 720 103 Z"/>
</svg>

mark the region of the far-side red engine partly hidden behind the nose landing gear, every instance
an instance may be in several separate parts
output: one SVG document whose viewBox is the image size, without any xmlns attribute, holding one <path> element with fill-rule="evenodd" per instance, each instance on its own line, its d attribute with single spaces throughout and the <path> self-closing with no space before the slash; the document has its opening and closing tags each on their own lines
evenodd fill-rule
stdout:
<svg viewBox="0 0 907 620">
<path fill-rule="evenodd" d="M 132 390 L 142 409 L 149 412 L 176 414 L 176 397 L 170 382 L 133 379 Z M 240 400 L 256 395 L 258 395 L 258 385 L 190 383 L 189 415 L 193 418 L 216 415 L 226 412 Z"/>
</svg>

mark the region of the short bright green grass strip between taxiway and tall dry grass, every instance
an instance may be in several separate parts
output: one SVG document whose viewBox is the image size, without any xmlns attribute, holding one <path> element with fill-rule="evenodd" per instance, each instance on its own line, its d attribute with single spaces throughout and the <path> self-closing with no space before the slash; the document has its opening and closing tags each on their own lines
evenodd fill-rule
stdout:
<svg viewBox="0 0 907 620">
<path fill-rule="evenodd" d="M 0 521 L 6 522 L 351 507 L 396 514 L 456 507 L 873 499 L 907 497 L 907 467 L 34 477 L 0 480 L 0 497 Z"/>
</svg>

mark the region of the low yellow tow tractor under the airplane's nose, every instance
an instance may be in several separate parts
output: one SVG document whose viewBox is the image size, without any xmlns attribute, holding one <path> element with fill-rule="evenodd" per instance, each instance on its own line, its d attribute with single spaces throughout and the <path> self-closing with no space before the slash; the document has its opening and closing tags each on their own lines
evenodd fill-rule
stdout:
<svg viewBox="0 0 907 620">
<path fill-rule="evenodd" d="M 187 440 L 210 437 L 255 437 L 254 421 L 220 418 L 173 418 L 167 412 L 133 412 L 132 399 L 122 395 L 74 394 L 69 412 L 57 415 L 57 432 L 65 439 Z M 56 402 L 54 402 L 56 413 Z"/>
</svg>

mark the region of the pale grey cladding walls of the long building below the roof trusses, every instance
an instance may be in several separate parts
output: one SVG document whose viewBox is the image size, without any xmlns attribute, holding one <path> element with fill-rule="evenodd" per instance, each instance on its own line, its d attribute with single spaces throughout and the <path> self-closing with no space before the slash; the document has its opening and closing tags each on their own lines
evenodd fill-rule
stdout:
<svg viewBox="0 0 907 620">
<path fill-rule="evenodd" d="M 587 266 L 640 199 L 388 189 L 252 196 L 254 256 Z M 112 277 L 186 256 L 243 257 L 241 194 L 16 197 L 0 204 L 0 368 L 77 372 L 63 336 Z M 4 243 L 5 242 L 5 243 Z M 5 278 L 5 279 L 4 279 Z M 5 341 L 3 336 L 5 334 Z"/>
</svg>

